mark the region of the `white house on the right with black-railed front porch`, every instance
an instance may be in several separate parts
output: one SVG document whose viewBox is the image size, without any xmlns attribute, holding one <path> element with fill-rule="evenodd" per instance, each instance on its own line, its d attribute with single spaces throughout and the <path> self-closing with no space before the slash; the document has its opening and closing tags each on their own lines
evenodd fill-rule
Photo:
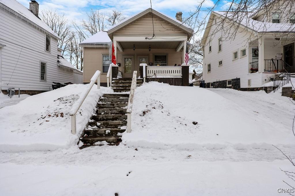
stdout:
<svg viewBox="0 0 295 196">
<path fill-rule="evenodd" d="M 212 11 L 201 40 L 205 87 L 259 90 L 294 73 L 295 8 L 274 2 L 257 12 Z"/>
</svg>

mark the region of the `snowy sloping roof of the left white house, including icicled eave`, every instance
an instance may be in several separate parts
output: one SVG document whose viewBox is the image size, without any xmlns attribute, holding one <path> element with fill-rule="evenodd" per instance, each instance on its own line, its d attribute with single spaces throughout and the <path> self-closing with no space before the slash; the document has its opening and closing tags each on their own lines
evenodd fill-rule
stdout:
<svg viewBox="0 0 295 196">
<path fill-rule="evenodd" d="M 59 36 L 50 29 L 41 19 L 37 18 L 29 9 L 16 0 L 0 0 L 0 9 L 4 9 L 16 16 L 17 18 L 27 21 L 29 24 L 44 33 L 51 34 L 54 38 L 60 39 Z"/>
</svg>

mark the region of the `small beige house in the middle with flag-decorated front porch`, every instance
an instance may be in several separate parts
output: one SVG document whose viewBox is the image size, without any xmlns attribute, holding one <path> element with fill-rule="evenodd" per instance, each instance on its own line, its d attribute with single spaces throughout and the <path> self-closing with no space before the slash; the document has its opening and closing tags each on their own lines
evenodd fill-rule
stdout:
<svg viewBox="0 0 295 196">
<path fill-rule="evenodd" d="M 131 78 L 133 71 L 140 76 L 140 64 L 146 63 L 148 81 L 162 78 L 161 82 L 183 85 L 181 65 L 185 63 L 187 42 L 192 36 L 193 29 L 183 24 L 181 12 L 173 19 L 146 9 L 79 44 L 84 49 L 83 82 L 89 83 L 99 70 L 101 85 L 106 86 L 113 43 L 123 78 Z"/>
</svg>

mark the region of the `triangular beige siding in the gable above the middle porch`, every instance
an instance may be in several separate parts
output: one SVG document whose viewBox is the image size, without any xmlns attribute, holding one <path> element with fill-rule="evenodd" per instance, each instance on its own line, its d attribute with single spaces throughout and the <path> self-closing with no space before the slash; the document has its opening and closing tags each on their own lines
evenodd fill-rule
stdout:
<svg viewBox="0 0 295 196">
<path fill-rule="evenodd" d="M 155 34 L 167 33 L 184 33 L 175 26 L 153 16 Z M 134 23 L 124 27 L 116 32 L 116 34 L 153 34 L 153 21 L 152 15 L 149 14 Z M 186 34 L 186 33 L 184 33 Z"/>
</svg>

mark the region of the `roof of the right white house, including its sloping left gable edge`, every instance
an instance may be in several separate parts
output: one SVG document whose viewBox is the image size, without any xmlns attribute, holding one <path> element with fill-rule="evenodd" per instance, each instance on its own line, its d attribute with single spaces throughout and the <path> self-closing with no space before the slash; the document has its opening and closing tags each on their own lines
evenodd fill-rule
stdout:
<svg viewBox="0 0 295 196">
<path fill-rule="evenodd" d="M 257 33 L 281 33 L 281 32 L 295 32 L 295 24 L 289 23 L 269 23 L 269 22 L 261 22 L 256 21 L 251 18 L 253 12 L 240 12 L 237 15 L 237 19 L 231 18 L 231 16 L 235 16 L 236 12 L 226 12 L 226 11 L 212 11 L 209 17 L 209 21 L 207 22 L 207 26 L 205 32 L 202 37 L 201 46 L 204 46 L 205 41 L 208 37 L 209 30 L 212 24 L 212 16 L 218 16 L 222 19 L 229 19 L 230 21 L 237 23 L 253 32 Z M 239 21 L 239 22 L 237 22 Z"/>
</svg>

